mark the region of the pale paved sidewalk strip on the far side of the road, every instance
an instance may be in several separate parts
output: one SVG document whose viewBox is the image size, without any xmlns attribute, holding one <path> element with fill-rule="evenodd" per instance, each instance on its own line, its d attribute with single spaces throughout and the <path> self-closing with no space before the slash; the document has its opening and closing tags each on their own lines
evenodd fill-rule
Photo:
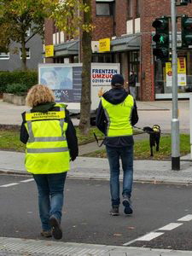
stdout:
<svg viewBox="0 0 192 256">
<path fill-rule="evenodd" d="M 0 172 L 30 175 L 25 170 L 24 153 L 0 151 Z M 11 160 L 11 161 L 10 161 Z M 71 163 L 70 178 L 109 179 L 107 159 L 78 157 Z M 122 179 L 122 176 L 121 176 Z M 172 171 L 171 161 L 135 160 L 134 181 L 192 184 L 192 162 L 189 156 L 181 161 L 181 171 Z"/>
</svg>

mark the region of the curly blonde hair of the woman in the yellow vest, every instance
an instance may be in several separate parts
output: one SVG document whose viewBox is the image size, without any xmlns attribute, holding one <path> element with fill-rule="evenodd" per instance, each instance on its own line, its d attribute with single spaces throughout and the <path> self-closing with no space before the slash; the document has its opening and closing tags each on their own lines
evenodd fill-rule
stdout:
<svg viewBox="0 0 192 256">
<path fill-rule="evenodd" d="M 55 102 L 53 91 L 43 84 L 33 85 L 27 93 L 26 105 L 33 108 L 44 102 Z"/>
</svg>

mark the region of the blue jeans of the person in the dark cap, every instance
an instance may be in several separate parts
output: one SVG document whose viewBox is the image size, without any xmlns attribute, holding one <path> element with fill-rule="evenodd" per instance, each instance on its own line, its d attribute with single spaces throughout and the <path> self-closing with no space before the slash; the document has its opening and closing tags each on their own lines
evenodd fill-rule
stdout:
<svg viewBox="0 0 192 256">
<path fill-rule="evenodd" d="M 123 196 L 131 197 L 133 181 L 133 146 L 112 148 L 106 146 L 110 167 L 110 192 L 112 206 L 119 205 L 119 159 L 123 168 Z"/>
</svg>

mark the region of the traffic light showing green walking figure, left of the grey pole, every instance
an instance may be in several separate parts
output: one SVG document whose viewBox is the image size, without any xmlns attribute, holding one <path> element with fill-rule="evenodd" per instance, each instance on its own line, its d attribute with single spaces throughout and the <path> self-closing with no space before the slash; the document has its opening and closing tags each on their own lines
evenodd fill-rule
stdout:
<svg viewBox="0 0 192 256">
<path fill-rule="evenodd" d="M 156 49 L 154 49 L 154 55 L 157 59 L 162 61 L 169 60 L 169 18 L 162 17 L 154 20 L 152 23 L 156 32 L 153 37 L 156 43 Z"/>
</svg>

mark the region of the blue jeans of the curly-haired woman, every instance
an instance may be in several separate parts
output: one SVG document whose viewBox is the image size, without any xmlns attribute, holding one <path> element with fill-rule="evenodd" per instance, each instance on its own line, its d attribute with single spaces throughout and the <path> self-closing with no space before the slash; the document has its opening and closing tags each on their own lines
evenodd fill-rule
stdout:
<svg viewBox="0 0 192 256">
<path fill-rule="evenodd" d="M 55 174 L 33 174 L 38 186 L 38 209 L 43 230 L 51 230 L 50 216 L 61 222 L 63 189 L 67 172 Z"/>
</svg>

